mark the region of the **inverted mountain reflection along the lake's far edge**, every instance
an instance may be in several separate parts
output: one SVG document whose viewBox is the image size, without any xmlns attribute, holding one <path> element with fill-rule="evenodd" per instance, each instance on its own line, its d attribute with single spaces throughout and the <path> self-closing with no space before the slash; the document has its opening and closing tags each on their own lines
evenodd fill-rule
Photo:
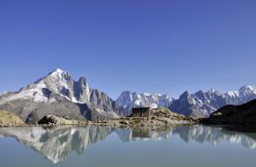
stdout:
<svg viewBox="0 0 256 167">
<path fill-rule="evenodd" d="M 256 134 L 245 134 L 226 130 L 222 127 L 169 127 L 149 130 L 147 128 L 117 127 L 2 127 L 0 137 L 12 137 L 41 153 L 52 163 L 64 161 L 72 151 L 85 154 L 91 143 L 106 139 L 116 133 L 122 142 L 136 140 L 167 140 L 178 135 L 184 142 L 210 142 L 214 145 L 222 141 L 238 143 L 248 149 L 256 148 Z"/>
</svg>

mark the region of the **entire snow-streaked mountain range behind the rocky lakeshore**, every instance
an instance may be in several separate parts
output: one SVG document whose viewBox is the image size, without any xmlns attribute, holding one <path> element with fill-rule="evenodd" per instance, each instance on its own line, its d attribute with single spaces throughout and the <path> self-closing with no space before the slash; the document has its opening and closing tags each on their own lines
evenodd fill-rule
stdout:
<svg viewBox="0 0 256 167">
<path fill-rule="evenodd" d="M 168 107 L 185 116 L 207 117 L 224 105 L 241 105 L 256 98 L 253 86 L 221 93 L 217 90 L 184 93 L 177 99 L 159 93 L 123 91 L 117 100 L 89 87 L 87 79 L 78 81 L 71 74 L 56 69 L 19 91 L 0 94 L 0 109 L 16 113 L 26 123 L 35 123 L 52 114 L 75 120 L 102 120 L 127 116 L 132 107 Z"/>
</svg>

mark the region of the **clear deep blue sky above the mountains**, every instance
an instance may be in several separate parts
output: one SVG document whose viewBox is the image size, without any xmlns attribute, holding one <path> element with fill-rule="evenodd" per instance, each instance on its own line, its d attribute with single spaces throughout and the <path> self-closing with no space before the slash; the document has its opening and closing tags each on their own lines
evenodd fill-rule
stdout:
<svg viewBox="0 0 256 167">
<path fill-rule="evenodd" d="M 256 85 L 255 0 L 1 0 L 0 91 L 61 68 L 121 91 Z"/>
</svg>

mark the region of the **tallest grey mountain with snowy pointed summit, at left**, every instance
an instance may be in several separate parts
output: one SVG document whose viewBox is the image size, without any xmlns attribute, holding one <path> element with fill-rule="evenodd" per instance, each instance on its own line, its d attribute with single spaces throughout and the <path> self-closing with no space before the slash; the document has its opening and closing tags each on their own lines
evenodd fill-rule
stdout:
<svg viewBox="0 0 256 167">
<path fill-rule="evenodd" d="M 75 81 L 62 69 L 19 91 L 2 94 L 0 109 L 18 114 L 26 122 L 36 122 L 47 114 L 77 120 L 111 119 L 125 114 L 124 108 L 106 94 L 90 89 L 85 77 Z"/>
</svg>

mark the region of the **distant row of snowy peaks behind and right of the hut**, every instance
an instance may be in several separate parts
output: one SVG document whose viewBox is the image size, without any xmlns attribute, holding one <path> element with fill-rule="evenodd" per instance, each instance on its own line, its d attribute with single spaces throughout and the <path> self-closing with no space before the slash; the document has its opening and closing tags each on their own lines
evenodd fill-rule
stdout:
<svg viewBox="0 0 256 167">
<path fill-rule="evenodd" d="M 117 104 L 126 108 L 128 113 L 131 113 L 132 107 L 136 106 L 165 106 L 169 107 L 171 112 L 186 116 L 207 117 L 224 105 L 242 105 L 255 98 L 256 89 L 252 86 L 243 86 L 239 91 L 228 91 L 226 93 L 221 93 L 215 89 L 206 92 L 197 91 L 192 94 L 184 91 L 177 99 L 157 93 L 138 94 L 132 91 L 124 91 L 117 98 Z"/>
</svg>

